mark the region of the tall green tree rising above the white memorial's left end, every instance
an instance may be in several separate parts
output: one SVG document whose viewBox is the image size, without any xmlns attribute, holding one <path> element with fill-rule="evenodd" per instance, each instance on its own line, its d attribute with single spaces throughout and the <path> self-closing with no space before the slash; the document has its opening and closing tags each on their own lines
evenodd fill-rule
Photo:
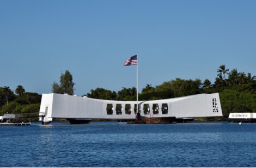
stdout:
<svg viewBox="0 0 256 168">
<path fill-rule="evenodd" d="M 64 74 L 62 73 L 60 75 L 59 83 L 53 82 L 52 92 L 60 94 L 67 93 L 69 95 L 73 95 L 75 83 L 72 80 L 72 74 L 69 72 L 69 70 L 66 70 Z"/>
</svg>

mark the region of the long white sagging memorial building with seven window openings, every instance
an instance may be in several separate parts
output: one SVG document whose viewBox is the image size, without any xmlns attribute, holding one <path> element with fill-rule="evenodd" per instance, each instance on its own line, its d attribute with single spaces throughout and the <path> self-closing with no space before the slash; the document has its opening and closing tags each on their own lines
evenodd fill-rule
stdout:
<svg viewBox="0 0 256 168">
<path fill-rule="evenodd" d="M 213 100 L 214 107 L 212 105 Z M 45 112 L 45 107 L 48 107 L 47 116 L 44 118 L 45 121 L 51 121 L 52 118 L 135 119 L 134 106 L 136 103 L 136 101 L 99 100 L 51 93 L 42 94 L 40 113 Z M 113 105 L 112 115 L 107 114 L 107 104 Z M 123 113 L 121 115 L 117 115 L 115 111 L 117 104 L 123 106 Z M 131 105 L 131 114 L 125 114 L 125 104 Z M 218 93 L 198 94 L 164 100 L 139 101 L 139 104 L 141 104 L 141 115 L 144 117 L 188 118 L 222 116 Z M 150 113 L 147 115 L 143 113 L 144 104 L 149 104 Z M 159 105 L 159 114 L 153 115 L 153 104 Z M 162 114 L 162 104 L 168 104 L 168 114 Z M 213 108 L 218 108 L 218 112 L 214 112 Z"/>
</svg>

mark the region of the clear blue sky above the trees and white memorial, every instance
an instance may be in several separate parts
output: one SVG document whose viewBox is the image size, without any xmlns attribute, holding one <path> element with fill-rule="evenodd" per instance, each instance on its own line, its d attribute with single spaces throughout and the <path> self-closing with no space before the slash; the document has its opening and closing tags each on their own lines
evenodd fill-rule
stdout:
<svg viewBox="0 0 256 168">
<path fill-rule="evenodd" d="M 70 70 L 75 94 L 139 91 L 180 77 L 214 82 L 221 64 L 256 75 L 256 1 L 0 1 L 0 86 L 50 93 Z"/>
</svg>

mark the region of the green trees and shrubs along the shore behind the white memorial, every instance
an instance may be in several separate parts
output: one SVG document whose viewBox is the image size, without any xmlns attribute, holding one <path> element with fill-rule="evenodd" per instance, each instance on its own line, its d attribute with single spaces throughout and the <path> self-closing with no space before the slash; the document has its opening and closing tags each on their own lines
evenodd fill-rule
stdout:
<svg viewBox="0 0 256 168">
<path fill-rule="evenodd" d="M 59 83 L 53 82 L 52 92 L 73 95 L 75 83 L 72 80 L 72 74 L 66 70 L 60 75 Z M 214 83 L 208 79 L 176 78 L 155 87 L 147 84 L 138 96 L 139 100 L 159 100 L 217 92 L 220 93 L 223 117 L 196 118 L 195 121 L 224 121 L 228 119 L 229 113 L 256 112 L 256 76 L 238 72 L 237 69 L 226 69 L 224 64 L 217 69 Z M 136 101 L 136 87 L 123 87 L 118 92 L 96 88 L 84 95 L 95 99 Z M 8 112 L 24 121 L 38 121 L 36 113 L 39 112 L 40 102 L 40 94 L 26 92 L 21 85 L 15 91 L 7 86 L 0 87 L 0 115 Z"/>
</svg>

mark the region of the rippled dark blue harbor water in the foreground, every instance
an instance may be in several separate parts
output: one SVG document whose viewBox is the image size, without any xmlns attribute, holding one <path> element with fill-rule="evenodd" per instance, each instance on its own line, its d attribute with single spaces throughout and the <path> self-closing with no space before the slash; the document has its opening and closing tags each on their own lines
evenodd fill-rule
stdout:
<svg viewBox="0 0 256 168">
<path fill-rule="evenodd" d="M 256 167 L 256 124 L 0 127 L 1 167 Z"/>
</svg>

